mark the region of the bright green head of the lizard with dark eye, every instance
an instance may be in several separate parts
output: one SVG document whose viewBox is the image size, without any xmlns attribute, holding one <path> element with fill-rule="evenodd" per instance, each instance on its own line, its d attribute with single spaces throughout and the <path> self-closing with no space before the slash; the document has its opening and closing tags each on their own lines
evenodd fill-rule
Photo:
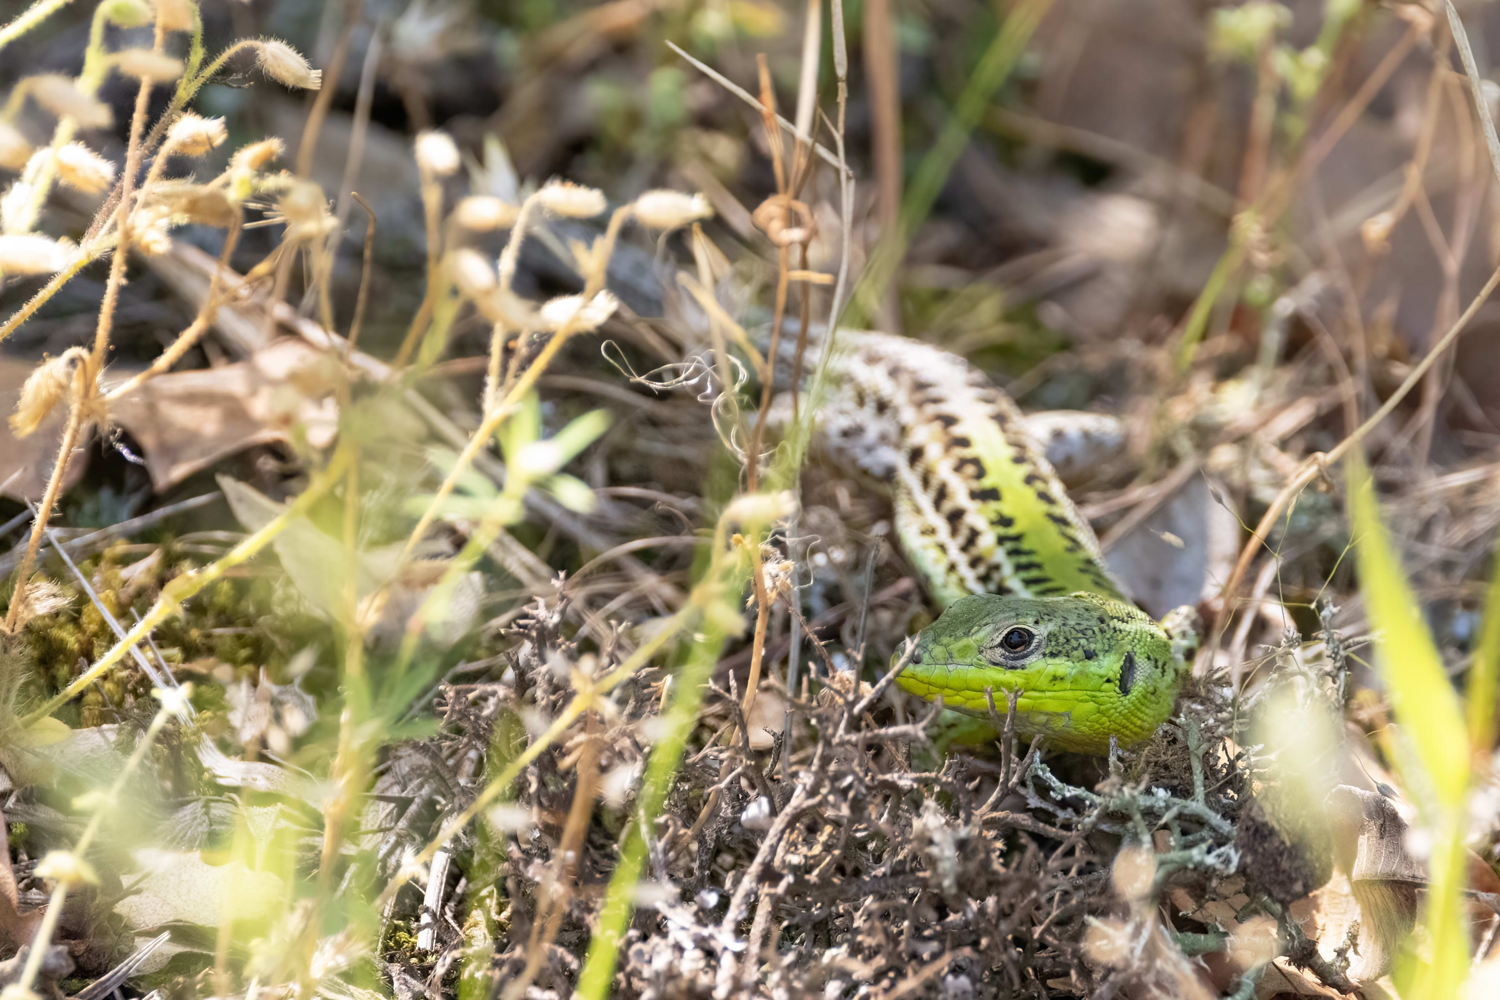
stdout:
<svg viewBox="0 0 1500 1000">
<path fill-rule="evenodd" d="M 1108 753 L 1140 744 L 1172 714 L 1182 670 L 1172 639 L 1140 609 L 1098 594 L 954 601 L 916 637 L 897 678 L 904 690 L 1004 718 L 1017 693 L 1016 732 L 1058 750 Z"/>
</svg>

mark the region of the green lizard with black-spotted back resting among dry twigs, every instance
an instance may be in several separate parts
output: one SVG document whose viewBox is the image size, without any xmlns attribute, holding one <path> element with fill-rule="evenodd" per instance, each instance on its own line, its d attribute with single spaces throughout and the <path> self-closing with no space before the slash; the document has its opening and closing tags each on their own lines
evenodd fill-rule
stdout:
<svg viewBox="0 0 1500 1000">
<path fill-rule="evenodd" d="M 897 684 L 981 718 L 1016 693 L 1016 732 L 1058 750 L 1149 739 L 1197 616 L 1158 624 L 1126 600 L 1016 403 L 962 358 L 879 333 L 840 331 L 830 378 L 822 447 L 891 484 L 902 546 L 945 607 Z"/>
</svg>

